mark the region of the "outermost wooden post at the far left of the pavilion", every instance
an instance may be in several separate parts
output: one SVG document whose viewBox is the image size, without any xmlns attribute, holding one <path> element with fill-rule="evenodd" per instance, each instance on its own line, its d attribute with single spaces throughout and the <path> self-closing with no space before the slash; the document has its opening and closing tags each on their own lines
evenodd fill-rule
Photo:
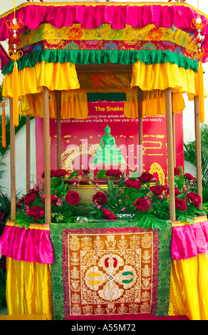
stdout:
<svg viewBox="0 0 208 335">
<path fill-rule="evenodd" d="M 11 175 L 11 220 L 16 219 L 16 155 L 15 127 L 13 125 L 13 98 L 9 98 L 10 110 L 10 175 Z"/>
</svg>

